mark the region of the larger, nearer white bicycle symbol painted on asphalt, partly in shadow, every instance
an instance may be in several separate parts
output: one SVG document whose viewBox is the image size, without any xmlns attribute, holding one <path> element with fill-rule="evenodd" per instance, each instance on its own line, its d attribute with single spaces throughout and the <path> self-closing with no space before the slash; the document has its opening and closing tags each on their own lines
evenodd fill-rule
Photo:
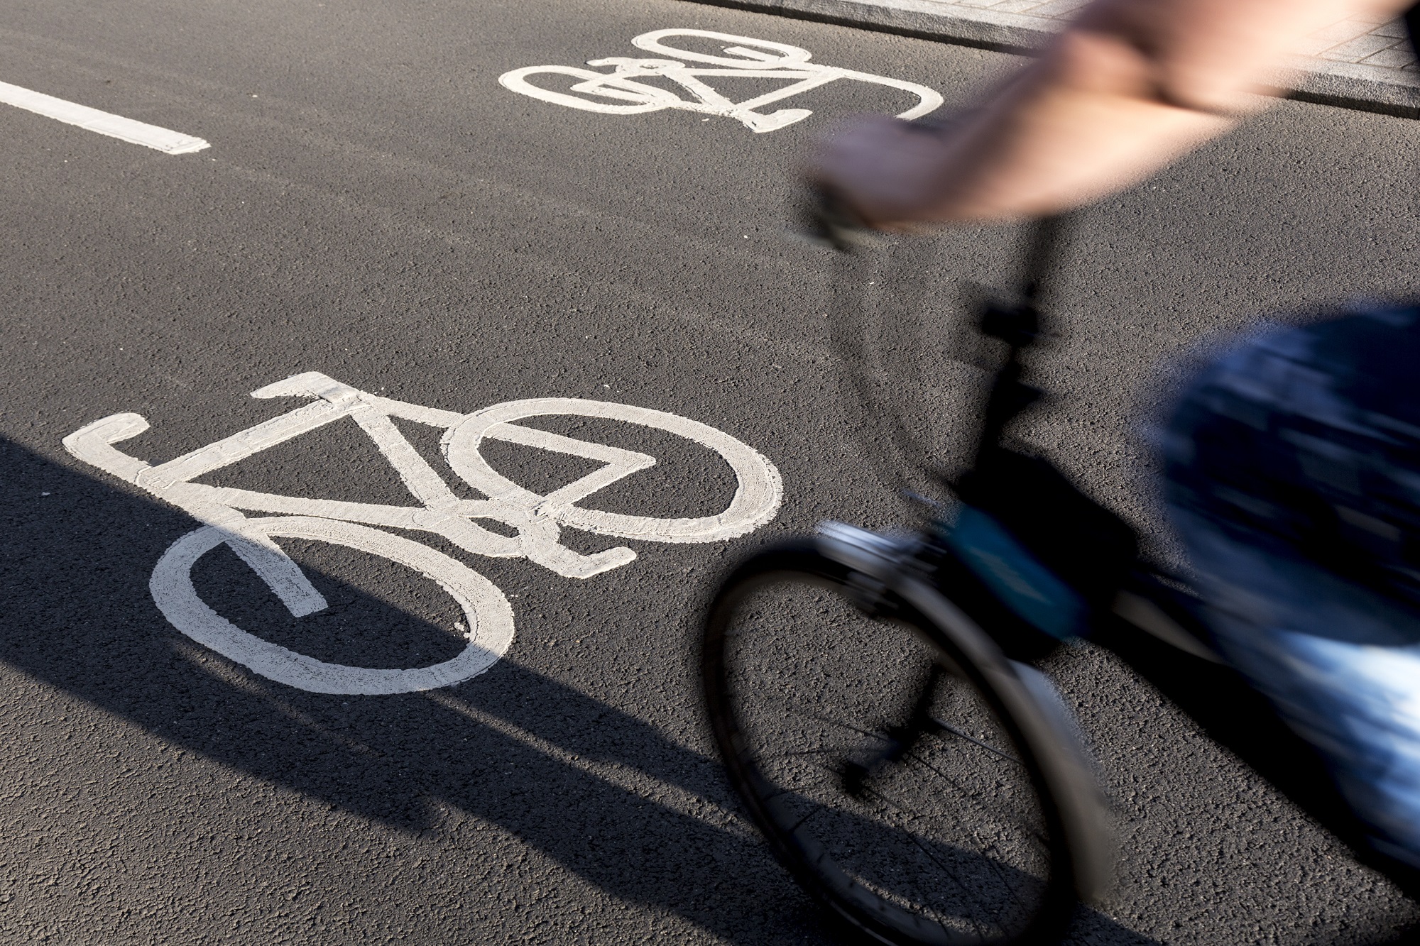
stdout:
<svg viewBox="0 0 1420 946">
<path fill-rule="evenodd" d="M 768 523 L 780 507 L 780 473 L 768 459 L 730 435 L 696 420 L 649 408 L 579 398 L 532 398 L 457 413 L 405 403 L 358 391 L 318 372 L 294 375 L 253 398 L 314 398 L 266 420 L 166 463 L 151 466 L 112 445 L 138 436 L 148 422 L 115 413 L 64 437 L 64 447 L 121 480 L 187 511 L 202 527 L 175 541 L 153 568 L 149 589 L 159 611 L 179 631 L 251 670 L 315 693 L 409 693 L 452 686 L 483 673 L 513 643 L 513 608 L 487 578 L 429 545 L 375 528 L 442 535 L 459 548 L 498 558 L 524 557 L 567 578 L 589 578 L 636 558 L 626 547 L 584 555 L 559 541 L 564 527 L 602 535 L 659 543 L 710 543 L 734 538 Z M 520 426 L 517 420 L 551 415 L 605 418 L 656 428 L 706 446 L 730 464 L 737 479 L 728 507 L 699 518 L 655 518 L 578 506 L 598 490 L 656 463 L 635 450 L 589 443 Z M 417 506 L 381 506 L 278 496 L 204 486 L 192 480 L 284 443 L 342 418 L 351 418 L 399 473 Z M 444 430 L 449 467 L 486 499 L 460 499 L 395 426 L 393 419 Z M 602 463 L 599 469 L 540 496 L 494 470 L 480 453 L 486 440 L 506 440 Z M 275 513 L 248 518 L 246 511 Z M 488 520 L 513 535 L 477 524 Z M 217 545 L 231 548 L 281 599 L 293 616 L 322 611 L 325 598 L 274 541 L 307 538 L 345 545 L 413 568 L 435 580 L 462 607 L 467 645 L 442 663 L 373 669 L 327 663 L 263 641 L 213 611 L 192 581 L 197 560 Z"/>
</svg>

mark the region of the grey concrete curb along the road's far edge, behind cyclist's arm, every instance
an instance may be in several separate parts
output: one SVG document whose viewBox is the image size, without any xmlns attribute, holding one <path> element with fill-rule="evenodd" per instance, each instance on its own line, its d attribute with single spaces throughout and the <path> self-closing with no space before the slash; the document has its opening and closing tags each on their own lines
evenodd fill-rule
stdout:
<svg viewBox="0 0 1420 946">
<path fill-rule="evenodd" d="M 1052 36 L 1051 30 L 1041 28 L 1038 17 L 987 9 L 963 16 L 961 7 L 953 4 L 949 11 L 946 4 L 933 0 L 689 1 L 1022 55 L 1030 55 Z M 1289 65 L 1295 74 L 1287 82 L 1291 87 L 1288 98 L 1400 118 L 1420 118 L 1420 72 L 1314 57 L 1294 57 Z"/>
</svg>

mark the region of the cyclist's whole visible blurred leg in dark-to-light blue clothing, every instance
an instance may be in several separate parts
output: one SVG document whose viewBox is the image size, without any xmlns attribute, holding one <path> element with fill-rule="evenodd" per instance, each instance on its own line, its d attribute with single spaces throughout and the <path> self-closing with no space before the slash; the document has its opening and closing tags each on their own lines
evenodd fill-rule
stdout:
<svg viewBox="0 0 1420 946">
<path fill-rule="evenodd" d="M 1167 497 L 1224 653 L 1420 866 L 1420 411 L 1413 310 L 1272 328 L 1189 385 Z"/>
</svg>

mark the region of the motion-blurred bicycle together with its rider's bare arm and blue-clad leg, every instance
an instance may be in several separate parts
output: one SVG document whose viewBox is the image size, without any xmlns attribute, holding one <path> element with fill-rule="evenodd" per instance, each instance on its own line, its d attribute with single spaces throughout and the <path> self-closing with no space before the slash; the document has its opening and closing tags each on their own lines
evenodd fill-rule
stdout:
<svg viewBox="0 0 1420 946">
<path fill-rule="evenodd" d="M 956 126 L 865 119 L 831 141 L 815 226 L 848 249 L 863 227 L 1085 203 L 1228 128 L 1262 65 L 1348 10 L 1100 0 Z M 861 933 L 1051 942 L 1112 857 L 1082 740 L 1035 666 L 1088 636 L 1416 895 L 1420 311 L 1264 325 L 1194 369 L 1163 432 L 1184 581 L 1010 436 L 1039 393 L 1020 355 L 1058 226 L 1039 224 L 1021 297 L 981 312 L 1000 364 L 946 503 L 902 535 L 829 524 L 716 594 L 703 683 L 731 783 Z"/>
</svg>

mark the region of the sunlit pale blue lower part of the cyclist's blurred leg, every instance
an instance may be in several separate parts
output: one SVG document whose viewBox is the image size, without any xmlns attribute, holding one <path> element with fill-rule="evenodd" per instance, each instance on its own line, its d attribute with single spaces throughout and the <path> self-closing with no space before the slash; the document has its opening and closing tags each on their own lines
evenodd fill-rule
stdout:
<svg viewBox="0 0 1420 946">
<path fill-rule="evenodd" d="M 1384 854 L 1420 868 L 1420 639 L 1414 614 L 1176 513 L 1228 660 L 1326 759 Z M 1353 639 L 1348 639 L 1353 638 Z"/>
</svg>

